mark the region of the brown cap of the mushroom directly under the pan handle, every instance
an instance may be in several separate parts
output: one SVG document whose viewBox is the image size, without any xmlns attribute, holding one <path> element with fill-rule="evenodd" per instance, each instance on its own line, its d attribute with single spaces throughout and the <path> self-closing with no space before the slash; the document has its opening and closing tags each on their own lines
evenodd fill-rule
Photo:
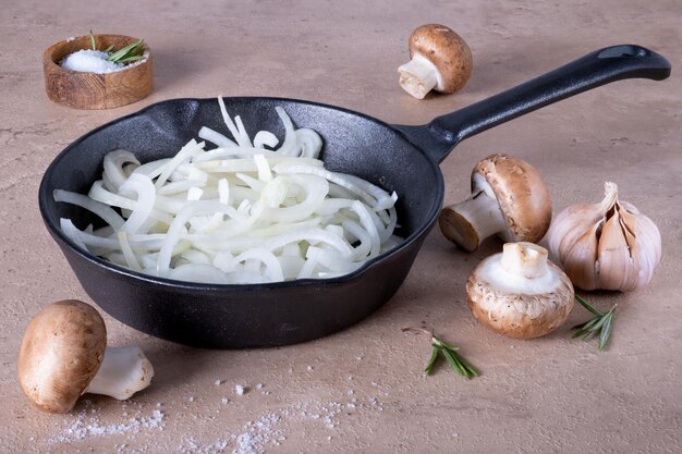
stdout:
<svg viewBox="0 0 682 454">
<path fill-rule="evenodd" d="M 499 234 L 509 243 L 537 243 L 551 223 L 551 198 L 537 169 L 509 155 L 491 155 L 472 171 L 472 193 L 486 189 L 487 182 L 497 198 L 507 232 Z"/>
</svg>

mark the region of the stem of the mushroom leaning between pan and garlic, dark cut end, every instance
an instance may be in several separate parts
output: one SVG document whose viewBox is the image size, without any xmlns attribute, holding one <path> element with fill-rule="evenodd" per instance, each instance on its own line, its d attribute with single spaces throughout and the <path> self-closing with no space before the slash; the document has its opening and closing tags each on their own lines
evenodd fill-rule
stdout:
<svg viewBox="0 0 682 454">
<path fill-rule="evenodd" d="M 504 229 L 504 218 L 496 198 L 480 191 L 464 201 L 446 207 L 438 219 L 442 234 L 467 253 Z"/>
</svg>

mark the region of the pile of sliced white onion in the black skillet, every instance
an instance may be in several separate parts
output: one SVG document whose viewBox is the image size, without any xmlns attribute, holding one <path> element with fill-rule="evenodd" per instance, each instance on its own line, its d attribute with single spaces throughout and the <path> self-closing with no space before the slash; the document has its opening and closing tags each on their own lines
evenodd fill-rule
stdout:
<svg viewBox="0 0 682 454">
<path fill-rule="evenodd" d="M 81 230 L 62 218 L 64 235 L 134 271 L 214 284 L 333 278 L 401 242 L 395 193 L 325 169 L 315 131 L 278 107 L 283 143 L 267 131 L 252 142 L 218 102 L 233 139 L 203 127 L 199 138 L 217 148 L 192 139 L 146 163 L 113 150 L 87 195 L 54 191 L 105 221 Z"/>
</svg>

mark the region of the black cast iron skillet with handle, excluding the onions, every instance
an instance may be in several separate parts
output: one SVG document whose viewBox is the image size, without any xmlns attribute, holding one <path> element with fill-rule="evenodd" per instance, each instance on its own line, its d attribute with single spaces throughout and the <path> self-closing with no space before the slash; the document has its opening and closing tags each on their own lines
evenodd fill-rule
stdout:
<svg viewBox="0 0 682 454">
<path fill-rule="evenodd" d="M 252 134 L 283 137 L 275 107 L 282 106 L 299 127 L 320 133 L 322 159 L 334 171 L 352 173 L 399 195 L 405 238 L 356 272 L 329 280 L 257 285 L 195 284 L 143 275 L 80 250 L 59 230 L 69 217 L 83 229 L 87 213 L 52 199 L 56 188 L 87 192 L 101 177 L 103 156 L 115 148 L 146 162 L 175 154 L 202 125 L 224 131 L 215 99 L 175 99 L 106 124 L 78 138 L 50 164 L 39 189 L 48 231 L 83 287 L 103 310 L 148 334 L 218 348 L 293 344 L 353 324 L 388 300 L 407 275 L 443 200 L 438 163 L 462 139 L 543 106 L 613 81 L 663 79 L 670 64 L 638 46 L 592 52 L 565 66 L 422 126 L 389 125 L 350 110 L 275 98 L 227 98 Z"/>
</svg>

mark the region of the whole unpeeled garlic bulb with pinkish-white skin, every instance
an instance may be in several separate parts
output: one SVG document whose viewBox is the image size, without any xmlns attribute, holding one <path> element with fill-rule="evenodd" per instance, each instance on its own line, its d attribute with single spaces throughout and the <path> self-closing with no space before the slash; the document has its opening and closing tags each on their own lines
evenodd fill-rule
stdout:
<svg viewBox="0 0 682 454">
<path fill-rule="evenodd" d="M 565 208 L 547 232 L 549 249 L 573 285 L 629 291 L 646 285 L 660 261 L 658 228 L 634 206 L 618 199 L 607 182 L 599 204 Z"/>
</svg>

